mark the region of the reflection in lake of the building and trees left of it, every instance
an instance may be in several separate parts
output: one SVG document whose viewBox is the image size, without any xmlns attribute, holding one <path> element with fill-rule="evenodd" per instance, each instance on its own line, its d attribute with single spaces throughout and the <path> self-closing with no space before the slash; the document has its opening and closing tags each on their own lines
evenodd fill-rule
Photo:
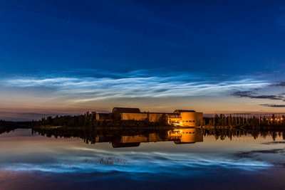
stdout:
<svg viewBox="0 0 285 190">
<path fill-rule="evenodd" d="M 167 142 L 175 144 L 203 141 L 203 131 L 198 127 L 173 128 L 171 130 L 91 130 L 91 129 L 36 129 L 33 134 L 45 137 L 79 137 L 86 144 L 110 142 L 114 148 L 138 147 L 142 142 Z"/>
</svg>

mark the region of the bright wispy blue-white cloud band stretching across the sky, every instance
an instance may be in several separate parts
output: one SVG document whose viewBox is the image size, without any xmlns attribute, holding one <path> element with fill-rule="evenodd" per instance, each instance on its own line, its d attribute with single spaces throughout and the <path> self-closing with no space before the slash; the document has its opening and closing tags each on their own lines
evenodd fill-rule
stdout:
<svg viewBox="0 0 285 190">
<path fill-rule="evenodd" d="M 212 96 L 228 94 L 233 91 L 253 90 L 270 85 L 264 80 L 254 80 L 253 78 L 215 80 L 203 75 L 188 73 L 146 75 L 140 70 L 125 73 L 125 75 L 120 73 L 120 75 L 108 78 L 90 76 L 21 77 L 5 78 L 0 80 L 0 83 L 6 88 L 51 88 L 61 97 L 72 97 L 74 102 L 120 97 Z"/>
</svg>

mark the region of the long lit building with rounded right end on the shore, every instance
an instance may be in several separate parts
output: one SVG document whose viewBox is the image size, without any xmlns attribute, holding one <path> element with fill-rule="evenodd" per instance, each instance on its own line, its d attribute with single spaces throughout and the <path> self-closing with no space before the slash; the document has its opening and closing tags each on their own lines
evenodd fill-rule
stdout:
<svg viewBox="0 0 285 190">
<path fill-rule="evenodd" d="M 138 108 L 114 107 L 113 115 L 120 120 L 147 120 L 150 122 L 162 122 L 181 127 L 198 127 L 202 125 L 203 113 L 194 110 L 175 110 L 167 112 L 140 112 Z"/>
</svg>

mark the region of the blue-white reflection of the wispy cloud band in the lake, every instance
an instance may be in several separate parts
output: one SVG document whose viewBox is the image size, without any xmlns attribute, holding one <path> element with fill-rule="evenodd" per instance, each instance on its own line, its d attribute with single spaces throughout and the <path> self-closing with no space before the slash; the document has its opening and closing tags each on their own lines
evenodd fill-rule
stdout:
<svg viewBox="0 0 285 190">
<path fill-rule="evenodd" d="M 77 149 L 78 150 L 78 149 Z M 104 160 L 111 158 L 113 162 Z M 100 162 L 103 160 L 103 162 Z M 114 152 L 96 149 L 81 149 L 81 155 L 58 157 L 56 162 L 7 163 L 0 164 L 6 171 L 43 171 L 52 173 L 113 173 L 162 174 L 176 171 L 178 175 L 197 174 L 212 169 L 257 170 L 271 167 L 271 164 L 254 159 L 229 159 L 226 157 L 205 157 L 199 154 L 163 152 Z"/>
</svg>

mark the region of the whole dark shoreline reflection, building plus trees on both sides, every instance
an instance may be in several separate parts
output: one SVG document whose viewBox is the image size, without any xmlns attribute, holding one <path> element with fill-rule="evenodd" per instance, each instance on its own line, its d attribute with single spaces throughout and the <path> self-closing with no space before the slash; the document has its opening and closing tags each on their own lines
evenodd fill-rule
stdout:
<svg viewBox="0 0 285 190">
<path fill-rule="evenodd" d="M 225 129 L 202 129 L 199 127 L 172 128 L 167 130 L 143 130 L 143 129 L 101 129 L 90 128 L 68 128 L 60 127 L 56 129 L 33 129 L 32 134 L 40 134 L 45 137 L 78 137 L 83 139 L 86 144 L 97 144 L 100 142 L 110 142 L 114 148 L 120 147 L 139 147 L 143 142 L 167 142 L 175 144 L 192 144 L 203 142 L 203 137 L 212 136 L 215 139 L 224 140 L 239 137 L 251 136 L 253 139 L 258 137 L 276 137 L 285 139 L 284 130 L 225 130 Z"/>
</svg>

